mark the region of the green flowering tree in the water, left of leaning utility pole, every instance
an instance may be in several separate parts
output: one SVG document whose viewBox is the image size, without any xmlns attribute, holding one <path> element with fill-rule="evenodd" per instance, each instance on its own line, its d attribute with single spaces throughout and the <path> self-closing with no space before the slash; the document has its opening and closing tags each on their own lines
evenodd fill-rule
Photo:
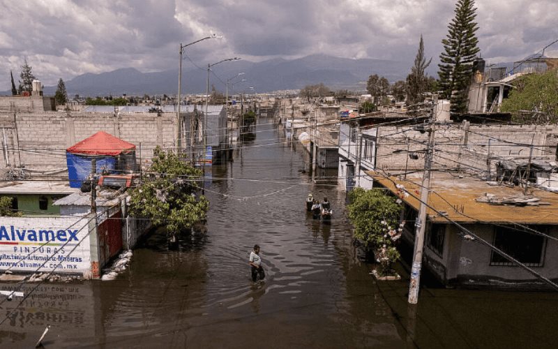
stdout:
<svg viewBox="0 0 558 349">
<path fill-rule="evenodd" d="M 400 258 L 395 242 L 401 237 L 401 207 L 392 196 L 379 189 L 354 188 L 347 206 L 354 225 L 354 237 L 377 253 L 380 274 L 391 274 L 391 265 Z"/>
</svg>

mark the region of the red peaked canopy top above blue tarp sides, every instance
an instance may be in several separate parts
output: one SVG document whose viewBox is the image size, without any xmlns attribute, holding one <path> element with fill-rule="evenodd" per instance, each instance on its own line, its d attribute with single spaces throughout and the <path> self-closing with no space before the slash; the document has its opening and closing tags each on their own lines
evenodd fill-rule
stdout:
<svg viewBox="0 0 558 349">
<path fill-rule="evenodd" d="M 128 143 L 120 138 L 114 137 L 109 133 L 99 131 L 89 138 L 77 142 L 72 147 L 66 149 L 72 154 L 88 155 L 110 155 L 116 156 L 123 152 L 135 150 L 135 145 Z"/>
</svg>

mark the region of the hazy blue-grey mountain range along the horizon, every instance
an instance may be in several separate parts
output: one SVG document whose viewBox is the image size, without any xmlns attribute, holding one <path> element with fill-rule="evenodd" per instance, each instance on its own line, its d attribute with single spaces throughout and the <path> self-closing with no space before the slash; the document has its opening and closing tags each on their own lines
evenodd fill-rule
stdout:
<svg viewBox="0 0 558 349">
<path fill-rule="evenodd" d="M 186 67 L 190 66 L 185 64 Z M 256 92 L 282 89 L 300 89 L 307 84 L 323 82 L 332 89 L 364 90 L 371 74 L 386 77 L 390 82 L 405 79 L 411 62 L 380 59 L 346 59 L 324 54 L 313 54 L 301 59 L 271 59 L 262 62 L 225 62 L 212 68 L 210 86 L 225 91 L 223 82 L 239 72 L 247 81 L 235 84 L 236 93 L 248 87 Z M 206 89 L 206 70 L 185 68 L 183 70 L 183 93 L 202 94 Z M 178 67 L 155 73 L 142 73 L 135 68 L 123 68 L 107 73 L 79 75 L 65 81 L 68 95 L 105 96 L 112 94 L 172 94 L 178 91 Z M 240 78 L 239 78 L 240 80 Z M 210 87 L 211 89 L 211 87 Z M 54 95 L 56 86 L 45 87 L 45 94 Z M 232 93 L 233 91 L 231 91 Z M 9 94 L 9 91 L 7 92 Z"/>
</svg>

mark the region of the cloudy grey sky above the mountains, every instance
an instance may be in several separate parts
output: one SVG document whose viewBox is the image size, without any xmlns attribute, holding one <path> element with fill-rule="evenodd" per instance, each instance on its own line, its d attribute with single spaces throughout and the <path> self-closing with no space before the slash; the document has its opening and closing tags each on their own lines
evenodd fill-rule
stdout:
<svg viewBox="0 0 558 349">
<path fill-rule="evenodd" d="M 0 90 L 24 57 L 43 84 L 133 67 L 176 69 L 180 43 L 199 65 L 323 53 L 412 61 L 423 34 L 437 59 L 456 0 L 0 0 Z M 481 54 L 518 60 L 558 39 L 557 0 L 476 0 Z M 546 54 L 558 57 L 558 44 Z M 187 63 L 188 65 L 189 63 Z M 186 66 L 188 68 L 188 66 Z"/>
</svg>

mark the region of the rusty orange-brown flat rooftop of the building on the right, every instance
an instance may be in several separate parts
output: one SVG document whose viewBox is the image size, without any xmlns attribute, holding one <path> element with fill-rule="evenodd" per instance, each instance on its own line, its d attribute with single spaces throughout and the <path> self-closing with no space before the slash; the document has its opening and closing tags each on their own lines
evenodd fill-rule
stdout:
<svg viewBox="0 0 558 349">
<path fill-rule="evenodd" d="M 407 179 L 400 177 L 386 178 L 384 174 L 375 171 L 366 172 L 376 184 L 389 188 L 395 195 L 400 194 L 395 184 L 405 186 L 405 189 L 416 196 L 399 195 L 407 205 L 418 211 L 421 197 L 422 172 L 407 174 Z M 395 182 L 395 183 L 394 183 Z M 508 186 L 494 185 L 495 182 L 482 181 L 475 179 L 467 174 L 449 174 L 446 172 L 432 172 L 430 181 L 430 195 L 428 204 L 439 212 L 428 208 L 428 220 L 435 223 L 449 223 L 444 216 L 459 223 L 520 223 L 520 224 L 558 224 L 558 193 L 551 193 L 541 189 L 529 188 L 527 197 L 524 197 L 522 188 L 511 188 Z M 488 202 L 477 202 L 477 198 L 494 198 L 513 200 L 513 198 L 529 199 L 539 198 L 540 201 L 534 205 L 506 205 Z M 543 205 L 540 205 L 543 203 Z"/>
</svg>

